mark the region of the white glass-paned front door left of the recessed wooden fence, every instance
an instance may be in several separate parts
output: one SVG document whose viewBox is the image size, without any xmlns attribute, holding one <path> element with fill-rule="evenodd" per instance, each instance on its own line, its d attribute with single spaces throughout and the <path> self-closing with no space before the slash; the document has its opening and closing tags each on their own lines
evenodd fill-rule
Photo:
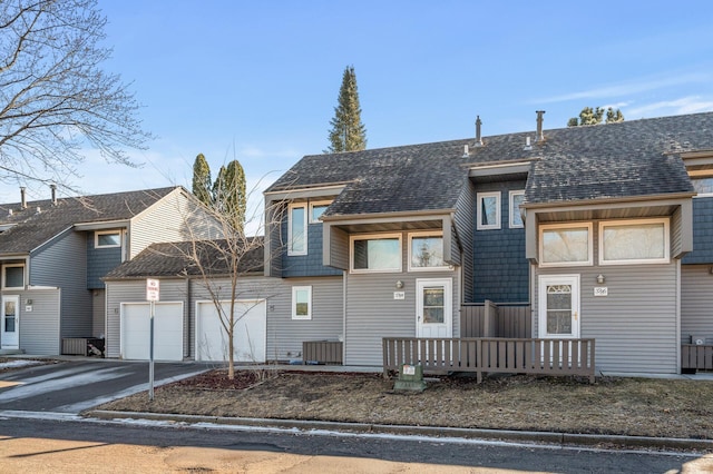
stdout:
<svg viewBox="0 0 713 474">
<path fill-rule="evenodd" d="M 416 336 L 453 337 L 451 278 L 416 280 Z"/>
</svg>

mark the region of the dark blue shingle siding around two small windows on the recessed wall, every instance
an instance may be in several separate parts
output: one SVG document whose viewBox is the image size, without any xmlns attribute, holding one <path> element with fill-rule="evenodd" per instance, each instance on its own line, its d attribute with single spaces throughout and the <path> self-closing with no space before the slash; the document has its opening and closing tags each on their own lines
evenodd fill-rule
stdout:
<svg viewBox="0 0 713 474">
<path fill-rule="evenodd" d="M 476 186 L 477 192 L 500 191 L 500 229 L 475 230 L 472 303 L 482 303 L 486 299 L 498 304 L 529 300 L 529 263 L 525 257 L 525 228 L 511 229 L 509 226 L 509 191 L 522 189 L 525 181 L 487 182 Z M 477 223 L 476 199 L 477 196 L 473 196 L 473 223 Z"/>
</svg>

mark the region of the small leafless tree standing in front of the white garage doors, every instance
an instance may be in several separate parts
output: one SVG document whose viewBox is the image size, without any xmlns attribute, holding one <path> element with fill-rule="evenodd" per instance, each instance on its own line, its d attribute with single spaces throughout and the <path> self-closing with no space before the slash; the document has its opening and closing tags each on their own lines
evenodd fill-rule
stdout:
<svg viewBox="0 0 713 474">
<path fill-rule="evenodd" d="M 252 192 L 255 192 L 253 190 Z M 227 192 L 225 196 L 229 196 Z M 250 195 L 248 195 L 250 196 Z M 196 200 L 197 201 L 197 200 Z M 244 209 L 226 209 L 219 203 L 212 205 L 198 204 L 198 213 L 186 216 L 185 227 L 189 240 L 174 244 L 173 251 L 178 251 L 186 261 L 187 276 L 197 277 L 199 285 L 205 288 L 221 326 L 227 338 L 226 353 L 228 362 L 228 378 L 235 377 L 235 336 L 237 323 L 246 316 L 252 306 L 241 304 L 241 299 L 250 295 L 251 299 L 266 299 L 279 293 L 279 282 L 270 284 L 266 280 L 251 283 L 250 277 L 262 276 L 265 239 L 260 236 L 265 228 L 274 223 L 263 218 L 263 208 L 251 209 L 247 215 Z M 275 209 L 284 206 L 275 204 Z M 265 209 L 268 219 L 280 219 L 280 211 Z M 196 218 L 196 216 L 203 216 Z M 245 224 L 245 225 L 243 225 Z M 204 239 L 205 226 L 216 227 L 218 239 Z M 246 234 L 246 228 L 253 228 L 255 235 Z"/>
</svg>

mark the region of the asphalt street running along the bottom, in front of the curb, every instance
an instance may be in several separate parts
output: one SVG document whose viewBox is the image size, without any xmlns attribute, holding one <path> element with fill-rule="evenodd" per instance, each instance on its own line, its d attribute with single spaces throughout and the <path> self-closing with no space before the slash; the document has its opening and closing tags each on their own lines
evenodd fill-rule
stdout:
<svg viewBox="0 0 713 474">
<path fill-rule="evenodd" d="M 208 471 L 699 473 L 713 472 L 713 457 L 436 438 L 236 431 L 205 425 L 49 421 L 0 414 L 3 473 Z"/>
</svg>

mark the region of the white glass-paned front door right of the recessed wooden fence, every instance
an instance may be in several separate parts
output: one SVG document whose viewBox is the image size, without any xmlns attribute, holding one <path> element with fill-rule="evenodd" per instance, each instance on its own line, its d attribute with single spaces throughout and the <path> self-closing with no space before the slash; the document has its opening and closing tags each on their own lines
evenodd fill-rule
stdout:
<svg viewBox="0 0 713 474">
<path fill-rule="evenodd" d="M 539 337 L 579 337 L 579 275 L 539 277 Z"/>
</svg>

